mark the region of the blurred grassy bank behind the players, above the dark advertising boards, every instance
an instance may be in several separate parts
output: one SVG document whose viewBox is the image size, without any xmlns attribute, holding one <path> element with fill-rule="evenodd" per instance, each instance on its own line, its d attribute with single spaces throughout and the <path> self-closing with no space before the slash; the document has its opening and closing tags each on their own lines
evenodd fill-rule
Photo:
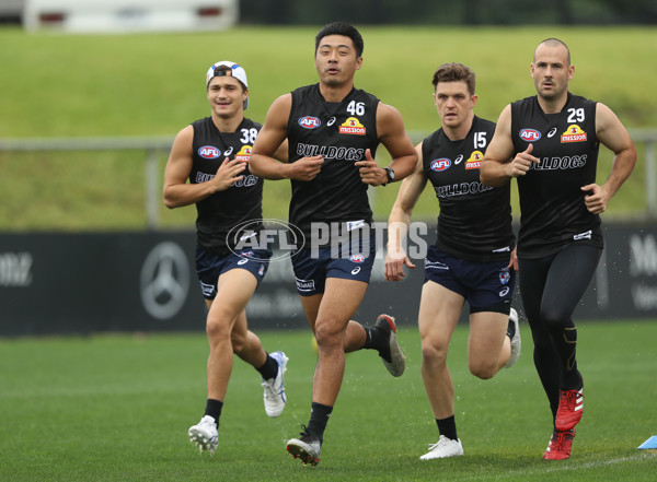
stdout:
<svg viewBox="0 0 657 482">
<path fill-rule="evenodd" d="M 0 138 L 164 136 L 173 139 L 208 114 L 205 71 L 230 58 L 249 72 L 247 115 L 264 120 L 270 103 L 316 82 L 313 38 L 318 26 L 239 27 L 176 35 L 27 35 L 0 28 Z M 532 95 L 529 63 L 535 45 L 557 36 L 576 66 L 573 92 L 609 105 L 630 128 L 657 127 L 652 27 L 374 27 L 361 28 L 365 63 L 356 85 L 400 109 L 419 141 L 439 127 L 430 79 L 445 61 L 477 73 L 477 115 L 497 119 L 506 104 Z M 609 216 L 645 212 L 644 146 L 635 174 L 610 203 Z M 601 150 L 604 151 L 604 150 Z M 384 150 L 378 160 L 387 164 Z M 168 153 L 160 155 L 160 171 Z M 142 152 L 0 152 L 0 230 L 143 230 Z M 611 157 L 601 152 L 599 180 Z M 161 178 L 161 176 L 160 176 Z M 374 215 L 384 220 L 399 185 L 374 189 Z M 512 189 L 515 192 L 515 189 Z M 266 218 L 287 219 L 289 184 L 267 183 Z M 514 200 L 515 205 L 517 202 Z M 415 215 L 434 219 L 427 189 Z M 166 211 L 162 225 L 192 228 L 194 208 Z"/>
</svg>

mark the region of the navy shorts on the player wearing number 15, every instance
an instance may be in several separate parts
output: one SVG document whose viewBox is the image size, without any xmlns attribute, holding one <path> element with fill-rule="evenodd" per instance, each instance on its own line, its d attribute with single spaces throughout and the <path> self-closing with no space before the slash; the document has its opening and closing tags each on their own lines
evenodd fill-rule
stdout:
<svg viewBox="0 0 657 482">
<path fill-rule="evenodd" d="M 470 313 L 497 311 L 508 315 L 516 285 L 516 271 L 509 261 L 468 261 L 429 246 L 425 258 L 425 280 L 460 294 Z"/>
</svg>

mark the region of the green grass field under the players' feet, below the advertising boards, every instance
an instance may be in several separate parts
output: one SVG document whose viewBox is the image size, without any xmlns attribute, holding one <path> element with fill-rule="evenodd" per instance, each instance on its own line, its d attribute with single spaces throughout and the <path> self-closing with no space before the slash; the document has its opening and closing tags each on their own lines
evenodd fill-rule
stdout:
<svg viewBox="0 0 657 482">
<path fill-rule="evenodd" d="M 586 413 L 573 457 L 541 459 L 549 409 L 521 325 L 523 354 L 482 381 L 466 373 L 466 327 L 450 366 L 465 457 L 420 462 L 437 430 L 419 375 L 417 331 L 400 329 L 407 371 L 392 378 L 373 352 L 347 358 L 321 463 L 303 467 L 285 442 L 308 422 L 315 354 L 309 330 L 261 332 L 290 356 L 288 407 L 268 419 L 255 371 L 237 362 L 219 449 L 186 437 L 205 405 L 203 333 L 0 340 L 1 481 L 654 481 L 657 322 L 579 325 Z"/>
</svg>

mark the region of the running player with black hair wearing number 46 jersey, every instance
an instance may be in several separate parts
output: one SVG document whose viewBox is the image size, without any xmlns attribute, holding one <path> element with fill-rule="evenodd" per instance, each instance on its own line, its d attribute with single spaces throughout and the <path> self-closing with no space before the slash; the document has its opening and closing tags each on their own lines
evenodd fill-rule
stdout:
<svg viewBox="0 0 657 482">
<path fill-rule="evenodd" d="M 320 461 L 345 352 L 376 349 L 393 376 L 405 366 L 392 317 L 380 316 L 373 327 L 350 320 L 365 296 L 376 254 L 367 189 L 407 176 L 417 160 L 400 113 L 354 86 L 362 48 L 353 25 L 325 25 L 315 36 L 320 82 L 272 104 L 251 158 L 255 174 L 291 179 L 290 221 L 306 235 L 292 268 L 318 341 L 318 364 L 310 421 L 286 447 L 311 465 Z M 273 155 L 286 138 L 289 162 L 278 163 Z M 379 143 L 392 157 L 387 167 L 374 161 Z M 337 237 L 345 235 L 349 243 L 341 246 Z"/>
</svg>

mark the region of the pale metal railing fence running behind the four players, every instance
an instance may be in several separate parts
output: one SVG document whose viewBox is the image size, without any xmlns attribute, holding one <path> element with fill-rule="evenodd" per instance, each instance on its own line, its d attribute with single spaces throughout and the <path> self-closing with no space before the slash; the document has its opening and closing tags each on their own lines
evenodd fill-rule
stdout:
<svg viewBox="0 0 657 482">
<path fill-rule="evenodd" d="M 424 139 L 427 133 L 410 132 L 414 143 Z M 657 129 L 630 129 L 630 134 L 636 144 L 644 143 L 645 149 L 645 181 L 648 218 L 657 219 L 657 165 L 655 160 L 655 143 Z M 146 218 L 148 227 L 160 227 L 161 173 L 158 166 L 158 155 L 168 154 L 173 138 L 169 137 L 135 137 L 135 138 L 51 138 L 51 139 L 0 139 L 0 152 L 47 152 L 47 151 L 143 151 L 146 168 Z M 639 166 L 644 160 L 639 158 Z"/>
</svg>

